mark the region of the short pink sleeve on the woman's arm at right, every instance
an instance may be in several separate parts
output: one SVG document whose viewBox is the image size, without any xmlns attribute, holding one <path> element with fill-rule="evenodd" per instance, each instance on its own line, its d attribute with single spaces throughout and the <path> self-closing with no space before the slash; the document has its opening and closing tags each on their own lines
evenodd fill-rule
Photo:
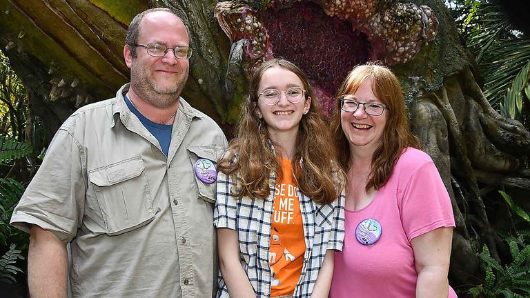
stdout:
<svg viewBox="0 0 530 298">
<path fill-rule="evenodd" d="M 409 241 L 441 227 L 454 227 L 451 199 L 432 161 L 422 163 L 402 191 L 402 224 Z"/>
</svg>

